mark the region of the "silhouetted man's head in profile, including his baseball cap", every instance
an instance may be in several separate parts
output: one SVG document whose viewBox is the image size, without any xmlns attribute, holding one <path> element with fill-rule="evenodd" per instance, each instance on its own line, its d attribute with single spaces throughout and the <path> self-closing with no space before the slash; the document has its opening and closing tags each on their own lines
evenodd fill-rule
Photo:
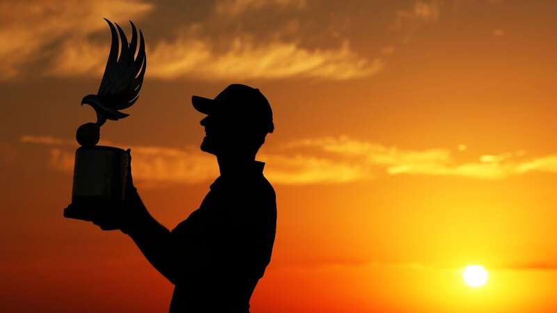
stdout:
<svg viewBox="0 0 557 313">
<path fill-rule="evenodd" d="M 201 120 L 205 127 L 201 150 L 217 156 L 255 157 L 274 130 L 271 105 L 256 88 L 232 84 L 214 99 L 194 95 L 191 103 L 207 114 Z"/>
</svg>

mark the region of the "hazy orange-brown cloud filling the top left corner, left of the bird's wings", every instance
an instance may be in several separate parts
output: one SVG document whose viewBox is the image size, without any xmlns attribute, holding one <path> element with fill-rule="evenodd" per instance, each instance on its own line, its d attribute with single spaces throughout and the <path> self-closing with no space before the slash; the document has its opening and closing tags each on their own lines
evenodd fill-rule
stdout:
<svg viewBox="0 0 557 313">
<path fill-rule="evenodd" d="M 87 51 L 88 35 L 104 31 L 106 25 L 101 17 L 119 21 L 139 18 L 152 7 L 139 0 L 4 1 L 0 3 L 0 80 L 17 77 L 25 65 L 50 60 L 55 44 L 63 47 L 62 53 L 54 56 L 54 65 L 47 67 L 58 68 L 58 63 L 75 51 Z M 100 49 L 100 54 L 104 50 L 107 49 Z M 87 53 L 81 58 L 74 56 L 73 60 L 84 63 L 82 67 L 87 70 L 97 65 Z"/>
</svg>

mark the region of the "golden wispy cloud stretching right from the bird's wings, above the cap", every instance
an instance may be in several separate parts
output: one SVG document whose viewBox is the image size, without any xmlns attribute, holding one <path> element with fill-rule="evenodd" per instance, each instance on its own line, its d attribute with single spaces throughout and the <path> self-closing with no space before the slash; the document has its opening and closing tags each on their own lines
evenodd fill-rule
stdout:
<svg viewBox="0 0 557 313">
<path fill-rule="evenodd" d="M 149 75 L 160 79 L 282 79 L 306 77 L 332 80 L 369 77 L 383 68 L 381 59 L 369 61 L 344 42 L 338 49 L 306 49 L 295 42 L 256 45 L 237 37 L 227 51 L 217 54 L 210 42 L 184 36 L 159 42 L 150 54 Z"/>
</svg>

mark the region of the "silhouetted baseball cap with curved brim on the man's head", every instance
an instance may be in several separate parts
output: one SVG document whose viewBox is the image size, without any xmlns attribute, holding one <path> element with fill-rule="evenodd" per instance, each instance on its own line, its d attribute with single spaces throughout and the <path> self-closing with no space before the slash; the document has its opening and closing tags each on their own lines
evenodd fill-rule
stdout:
<svg viewBox="0 0 557 313">
<path fill-rule="evenodd" d="M 214 99 L 194 95 L 191 103 L 197 111 L 207 115 L 222 114 L 267 133 L 274 130 L 271 104 L 257 88 L 233 83 Z"/>
</svg>

